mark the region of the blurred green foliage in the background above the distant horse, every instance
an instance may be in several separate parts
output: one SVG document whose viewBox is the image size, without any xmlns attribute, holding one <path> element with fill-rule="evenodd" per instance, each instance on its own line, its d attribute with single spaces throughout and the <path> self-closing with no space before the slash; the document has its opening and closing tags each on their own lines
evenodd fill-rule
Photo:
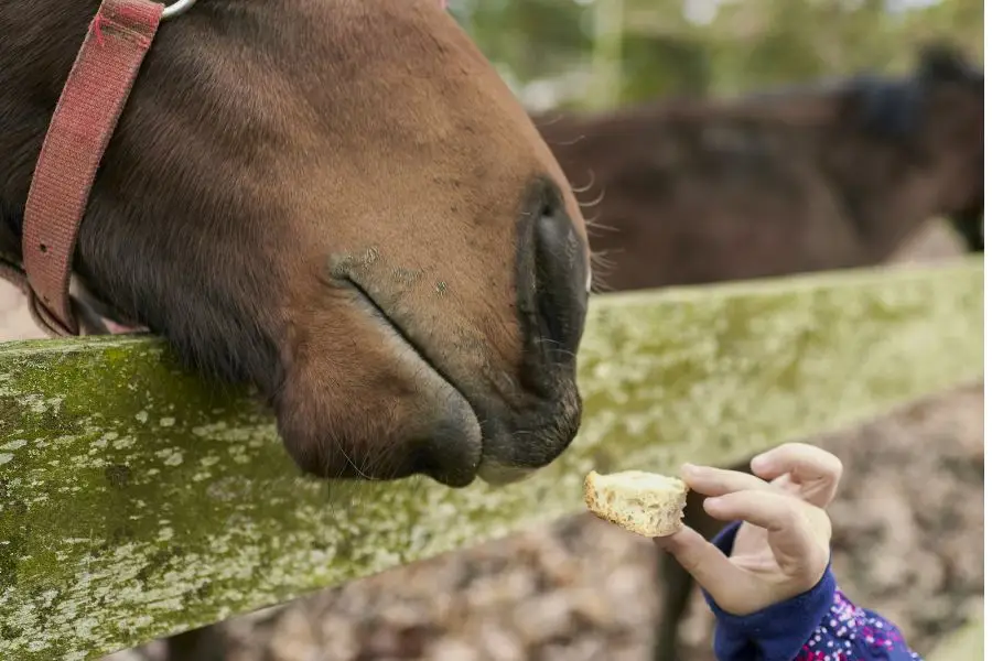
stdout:
<svg viewBox="0 0 992 661">
<path fill-rule="evenodd" d="M 924 42 L 950 40 L 981 62 L 981 0 L 892 11 L 891 0 L 461 0 L 453 11 L 515 82 L 590 72 L 565 106 L 603 108 L 658 96 L 906 71 Z M 619 14 L 622 32 L 603 30 Z M 616 43 L 614 43 L 616 42 Z M 612 64 L 603 57 L 613 58 Z M 604 79 L 605 78 L 605 79 Z"/>
</svg>

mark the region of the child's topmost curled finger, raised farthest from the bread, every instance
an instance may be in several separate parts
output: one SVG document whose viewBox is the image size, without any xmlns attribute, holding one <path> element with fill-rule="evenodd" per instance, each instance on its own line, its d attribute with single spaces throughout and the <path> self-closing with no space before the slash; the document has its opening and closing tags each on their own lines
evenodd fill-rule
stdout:
<svg viewBox="0 0 992 661">
<path fill-rule="evenodd" d="M 843 468 L 835 455 L 807 443 L 785 443 L 751 460 L 755 475 L 768 480 L 788 475 L 802 499 L 820 508 L 833 501 Z"/>
</svg>

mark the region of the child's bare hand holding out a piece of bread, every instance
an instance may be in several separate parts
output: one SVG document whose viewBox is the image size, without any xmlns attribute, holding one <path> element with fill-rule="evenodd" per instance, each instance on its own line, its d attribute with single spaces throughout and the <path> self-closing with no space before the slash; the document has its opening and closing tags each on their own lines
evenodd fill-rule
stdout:
<svg viewBox="0 0 992 661">
<path fill-rule="evenodd" d="M 807 592 L 827 570 L 831 528 L 823 508 L 833 500 L 842 468 L 834 455 L 801 443 L 756 456 L 751 469 L 759 477 L 687 464 L 682 479 L 711 497 L 703 502 L 707 512 L 744 521 L 733 552 L 725 556 L 690 528 L 655 541 L 723 610 L 762 610 Z"/>
</svg>

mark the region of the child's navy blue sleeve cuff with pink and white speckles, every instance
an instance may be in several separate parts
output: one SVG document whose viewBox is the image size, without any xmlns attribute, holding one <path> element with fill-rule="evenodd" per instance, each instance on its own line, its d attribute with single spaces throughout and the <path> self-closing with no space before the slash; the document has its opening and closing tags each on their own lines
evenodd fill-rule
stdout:
<svg viewBox="0 0 992 661">
<path fill-rule="evenodd" d="M 713 544 L 729 555 L 740 527 L 724 528 Z M 920 661 L 895 625 L 848 600 L 830 565 L 808 592 L 751 615 L 731 615 L 703 596 L 716 616 L 719 661 Z"/>
</svg>

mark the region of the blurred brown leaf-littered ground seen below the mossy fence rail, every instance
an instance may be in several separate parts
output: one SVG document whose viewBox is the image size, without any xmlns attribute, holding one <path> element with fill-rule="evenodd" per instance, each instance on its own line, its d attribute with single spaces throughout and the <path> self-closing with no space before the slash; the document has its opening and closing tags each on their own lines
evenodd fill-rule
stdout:
<svg viewBox="0 0 992 661">
<path fill-rule="evenodd" d="M 902 259 L 956 252 L 934 228 Z M 6 338 L 36 336 L 6 294 Z M 831 509 L 842 588 L 924 654 L 982 606 L 983 397 L 981 384 L 960 388 L 813 440 L 845 465 Z M 646 661 L 655 561 L 647 540 L 580 516 L 233 619 L 230 661 Z M 710 626 L 696 595 L 680 633 L 687 659 L 712 659 Z"/>
</svg>

